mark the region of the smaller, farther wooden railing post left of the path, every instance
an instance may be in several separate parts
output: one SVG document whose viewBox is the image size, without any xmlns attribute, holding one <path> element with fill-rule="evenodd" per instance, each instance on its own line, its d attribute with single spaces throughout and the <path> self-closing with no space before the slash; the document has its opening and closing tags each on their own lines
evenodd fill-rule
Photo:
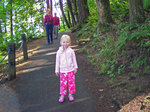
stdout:
<svg viewBox="0 0 150 112">
<path fill-rule="evenodd" d="M 26 43 L 26 35 L 22 34 L 22 41 L 23 41 L 23 55 L 24 60 L 28 59 L 28 52 L 27 52 L 27 43 Z"/>
</svg>

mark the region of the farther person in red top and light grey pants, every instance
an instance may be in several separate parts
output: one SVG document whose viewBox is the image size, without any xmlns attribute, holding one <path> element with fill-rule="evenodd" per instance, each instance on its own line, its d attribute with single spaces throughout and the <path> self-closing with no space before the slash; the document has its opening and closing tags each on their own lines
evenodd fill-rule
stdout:
<svg viewBox="0 0 150 112">
<path fill-rule="evenodd" d="M 57 17 L 57 13 L 54 13 L 53 21 L 54 21 L 54 37 L 58 38 L 58 30 L 60 29 L 59 17 Z"/>
</svg>

